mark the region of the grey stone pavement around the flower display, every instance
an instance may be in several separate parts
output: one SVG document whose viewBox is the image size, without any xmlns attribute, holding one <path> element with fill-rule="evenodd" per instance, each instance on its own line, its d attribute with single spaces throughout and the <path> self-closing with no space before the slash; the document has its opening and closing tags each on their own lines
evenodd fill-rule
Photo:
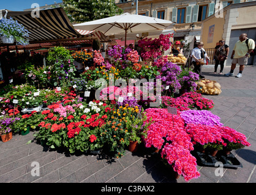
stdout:
<svg viewBox="0 0 256 195">
<path fill-rule="evenodd" d="M 224 126 L 232 127 L 246 135 L 252 146 L 232 154 L 243 168 L 224 169 L 216 176 L 216 168 L 198 166 L 201 176 L 189 183 L 254 183 L 256 182 L 256 66 L 246 66 L 243 77 L 224 77 L 213 74 L 213 66 L 204 66 L 207 79 L 216 80 L 222 87 L 218 96 L 205 96 L 214 101 L 212 112 L 220 116 Z M 230 66 L 224 68 L 228 73 Z M 235 75 L 238 67 L 235 69 Z M 107 159 L 100 155 L 75 154 L 49 150 L 32 141 L 28 135 L 13 135 L 7 143 L 0 142 L 0 182 L 34 183 L 186 183 L 183 177 L 173 179 L 156 154 L 129 151 L 120 159 Z M 39 174 L 34 168 L 39 164 Z"/>
</svg>

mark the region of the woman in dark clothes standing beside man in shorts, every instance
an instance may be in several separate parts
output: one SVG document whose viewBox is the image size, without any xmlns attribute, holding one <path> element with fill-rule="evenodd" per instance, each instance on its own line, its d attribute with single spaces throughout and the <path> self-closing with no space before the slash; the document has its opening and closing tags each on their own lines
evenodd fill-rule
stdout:
<svg viewBox="0 0 256 195">
<path fill-rule="evenodd" d="M 219 74 L 222 74 L 222 71 L 224 69 L 224 62 L 228 58 L 228 52 L 229 52 L 229 47 L 227 44 L 225 44 L 225 40 L 219 40 L 219 45 L 217 45 L 214 50 L 214 60 L 215 60 L 214 74 L 217 73 L 217 68 L 219 65 L 220 65 Z"/>
</svg>

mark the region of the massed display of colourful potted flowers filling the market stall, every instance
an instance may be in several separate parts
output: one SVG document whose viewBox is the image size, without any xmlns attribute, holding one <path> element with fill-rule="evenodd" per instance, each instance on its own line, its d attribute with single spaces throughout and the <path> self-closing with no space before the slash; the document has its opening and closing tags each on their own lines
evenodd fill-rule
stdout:
<svg viewBox="0 0 256 195">
<path fill-rule="evenodd" d="M 32 132 L 44 147 L 115 158 L 138 147 L 158 149 L 158 160 L 186 181 L 200 177 L 199 159 L 230 161 L 226 151 L 250 146 L 211 113 L 214 102 L 196 92 L 198 74 L 163 55 L 170 35 L 139 44 L 140 55 L 117 45 L 108 59 L 100 51 L 51 48 L 45 66 L 31 64 L 22 84 L 2 88 L 0 133 L 14 134 L 2 141 Z M 80 74 L 74 61 L 85 65 Z"/>
</svg>

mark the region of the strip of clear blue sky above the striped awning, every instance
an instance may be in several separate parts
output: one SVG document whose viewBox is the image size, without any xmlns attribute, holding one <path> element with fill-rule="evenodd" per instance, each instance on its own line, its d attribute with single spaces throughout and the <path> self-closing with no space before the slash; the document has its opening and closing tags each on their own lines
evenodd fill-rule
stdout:
<svg viewBox="0 0 256 195">
<path fill-rule="evenodd" d="M 55 4 L 55 2 L 62 2 L 61 0 L 0 0 L 0 10 L 7 9 L 12 11 L 23 11 L 24 9 L 31 8 L 33 3 L 40 6 L 45 4 Z"/>
</svg>

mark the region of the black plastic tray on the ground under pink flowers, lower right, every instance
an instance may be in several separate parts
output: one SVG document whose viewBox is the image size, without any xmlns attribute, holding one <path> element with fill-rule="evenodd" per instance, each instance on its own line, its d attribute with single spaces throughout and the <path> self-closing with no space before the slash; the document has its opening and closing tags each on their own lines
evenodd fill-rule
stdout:
<svg viewBox="0 0 256 195">
<path fill-rule="evenodd" d="M 232 153 L 226 155 L 222 154 L 221 152 L 218 152 L 216 157 L 213 157 L 207 153 L 192 151 L 192 155 L 194 155 L 195 158 L 197 158 L 197 164 L 200 166 L 223 166 L 224 168 L 230 169 L 243 168 L 243 165 L 237 160 L 237 158 Z"/>
</svg>

